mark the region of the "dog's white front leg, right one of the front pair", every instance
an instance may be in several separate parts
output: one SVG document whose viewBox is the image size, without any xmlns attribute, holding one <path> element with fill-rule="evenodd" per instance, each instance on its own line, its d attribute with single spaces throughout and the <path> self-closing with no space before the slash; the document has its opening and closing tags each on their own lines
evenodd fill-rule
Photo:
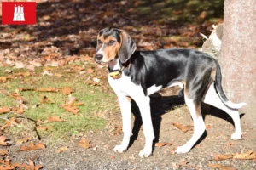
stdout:
<svg viewBox="0 0 256 170">
<path fill-rule="evenodd" d="M 143 99 L 135 100 L 143 119 L 143 133 L 145 136 L 145 146 L 144 149 L 140 151 L 139 156 L 148 157 L 152 154 L 153 139 L 154 139 L 154 129 L 151 119 L 150 112 L 150 99 L 148 96 L 143 96 Z"/>
</svg>

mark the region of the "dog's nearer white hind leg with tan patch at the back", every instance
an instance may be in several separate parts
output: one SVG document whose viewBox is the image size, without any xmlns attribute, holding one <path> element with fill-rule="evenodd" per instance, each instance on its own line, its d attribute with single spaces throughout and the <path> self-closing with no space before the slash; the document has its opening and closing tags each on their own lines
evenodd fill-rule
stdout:
<svg viewBox="0 0 256 170">
<path fill-rule="evenodd" d="M 205 122 L 203 121 L 201 116 L 201 105 L 195 105 L 194 101 L 192 99 L 188 99 L 186 96 L 185 102 L 188 105 L 190 114 L 193 118 L 194 133 L 192 135 L 192 138 L 189 139 L 189 141 L 186 144 L 177 147 L 176 153 L 178 154 L 189 152 L 191 148 L 194 146 L 194 144 L 197 142 L 197 140 L 200 139 L 201 135 L 206 130 Z"/>
</svg>

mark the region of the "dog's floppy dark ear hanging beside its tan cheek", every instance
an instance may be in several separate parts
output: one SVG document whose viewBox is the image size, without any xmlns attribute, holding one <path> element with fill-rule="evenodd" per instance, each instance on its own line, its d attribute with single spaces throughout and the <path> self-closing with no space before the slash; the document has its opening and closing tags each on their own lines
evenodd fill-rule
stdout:
<svg viewBox="0 0 256 170">
<path fill-rule="evenodd" d="M 121 47 L 119 48 L 119 59 L 121 63 L 125 63 L 131 58 L 131 54 L 136 50 L 136 43 L 131 39 L 126 31 L 120 30 Z"/>
</svg>

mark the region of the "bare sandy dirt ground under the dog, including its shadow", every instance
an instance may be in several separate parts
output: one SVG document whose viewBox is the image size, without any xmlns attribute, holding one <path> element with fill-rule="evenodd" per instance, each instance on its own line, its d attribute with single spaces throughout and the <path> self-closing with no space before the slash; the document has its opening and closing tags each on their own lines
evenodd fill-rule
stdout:
<svg viewBox="0 0 256 170">
<path fill-rule="evenodd" d="M 11 151 L 10 159 L 13 162 L 26 162 L 31 159 L 36 165 L 43 165 L 43 169 L 212 169 L 209 163 L 230 166 L 236 169 L 255 169 L 254 160 L 224 160 L 212 161 L 216 154 L 231 154 L 245 150 L 256 150 L 256 133 L 250 128 L 241 117 L 243 138 L 238 141 L 230 139 L 234 127 L 221 111 L 214 111 L 210 106 L 203 105 L 205 122 L 208 125 L 207 133 L 201 138 L 201 142 L 195 145 L 194 149 L 187 154 L 173 154 L 173 150 L 189 140 L 193 131 L 183 133 L 172 122 L 183 125 L 193 125 L 186 105 L 183 105 L 183 98 L 177 96 L 178 88 L 171 88 L 154 94 L 151 98 L 152 116 L 154 122 L 155 142 L 172 143 L 163 147 L 154 147 L 153 155 L 149 158 L 140 158 L 138 153 L 143 149 L 144 137 L 141 119 L 137 106 L 132 105 L 133 136 L 129 150 L 123 154 L 113 152 L 113 147 L 122 139 L 120 131 L 121 117 L 119 111 L 110 111 L 105 115 L 108 119 L 108 126 L 100 132 L 89 132 L 83 134 L 90 139 L 92 148 L 81 149 L 76 145 L 80 136 L 71 137 L 69 142 L 49 146 L 44 151 L 32 150 L 16 152 L 17 145 L 9 146 Z M 172 96 L 169 96 L 172 94 Z M 47 141 L 43 142 L 47 144 Z M 56 153 L 62 146 L 69 149 Z M 4 149 L 4 147 L 3 147 Z"/>
</svg>

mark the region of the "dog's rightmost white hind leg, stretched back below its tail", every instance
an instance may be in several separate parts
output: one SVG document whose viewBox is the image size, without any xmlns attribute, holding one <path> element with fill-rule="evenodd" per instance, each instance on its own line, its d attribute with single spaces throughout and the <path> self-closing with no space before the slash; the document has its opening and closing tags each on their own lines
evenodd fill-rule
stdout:
<svg viewBox="0 0 256 170">
<path fill-rule="evenodd" d="M 224 103 L 219 99 L 219 96 L 214 88 L 214 84 L 212 83 L 210 88 L 205 95 L 205 99 L 203 100 L 204 103 L 209 105 L 213 105 L 218 109 L 225 111 L 230 117 L 233 119 L 235 125 L 235 133 L 231 135 L 231 139 L 238 140 L 241 139 L 241 123 L 240 123 L 240 116 L 238 110 L 231 110 L 228 108 Z"/>
</svg>

